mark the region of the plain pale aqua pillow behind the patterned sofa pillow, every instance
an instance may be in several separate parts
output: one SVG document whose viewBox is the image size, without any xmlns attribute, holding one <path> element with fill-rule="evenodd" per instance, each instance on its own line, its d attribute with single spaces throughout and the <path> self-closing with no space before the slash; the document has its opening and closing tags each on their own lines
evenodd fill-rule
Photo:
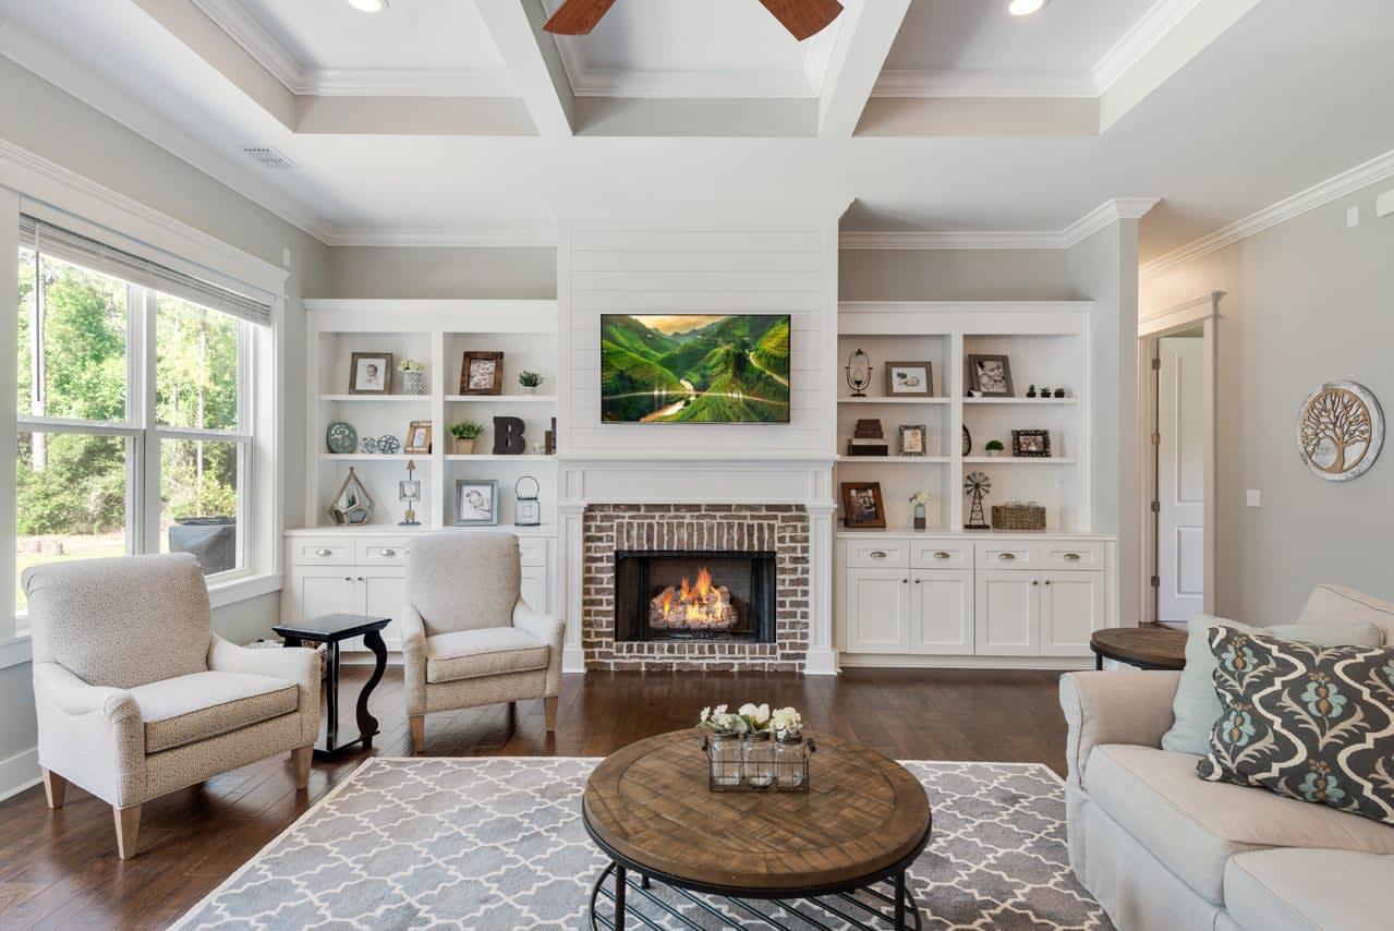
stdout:
<svg viewBox="0 0 1394 931">
<path fill-rule="evenodd" d="M 1228 617 L 1196 615 L 1186 624 L 1186 669 L 1181 673 L 1171 711 L 1177 721 L 1161 736 L 1161 748 L 1204 757 L 1210 753 L 1210 729 L 1224 714 L 1216 694 L 1216 658 L 1210 652 L 1209 631 L 1217 624 L 1243 633 L 1266 634 L 1282 640 L 1296 640 L 1313 647 L 1380 647 L 1384 636 L 1369 623 L 1358 624 L 1278 624 L 1253 627 Z"/>
</svg>

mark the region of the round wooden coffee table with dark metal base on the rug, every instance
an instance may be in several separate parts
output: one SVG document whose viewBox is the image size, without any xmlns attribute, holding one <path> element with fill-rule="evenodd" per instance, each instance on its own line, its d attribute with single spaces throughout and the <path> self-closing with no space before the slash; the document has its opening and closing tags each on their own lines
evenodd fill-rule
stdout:
<svg viewBox="0 0 1394 931">
<path fill-rule="evenodd" d="M 636 896 L 680 916 L 650 891 L 651 879 L 708 911 L 711 906 L 691 893 L 725 896 L 751 917 L 760 913 L 743 899 L 778 899 L 799 914 L 807 906 L 796 900 L 832 896 L 852 927 L 919 928 L 905 872 L 930 842 L 924 786 L 894 760 L 821 736 L 809 785 L 807 793 L 711 792 L 696 729 L 640 740 L 606 757 L 581 803 L 585 831 L 612 861 L 591 892 L 591 928 L 623 931 L 626 899 Z M 888 884 L 889 893 L 878 884 Z M 855 891 L 866 895 L 852 902 Z M 597 913 L 601 899 L 613 903 L 613 918 Z M 636 917 L 657 927 L 647 916 Z M 677 923 L 687 927 L 690 920 L 680 916 Z"/>
</svg>

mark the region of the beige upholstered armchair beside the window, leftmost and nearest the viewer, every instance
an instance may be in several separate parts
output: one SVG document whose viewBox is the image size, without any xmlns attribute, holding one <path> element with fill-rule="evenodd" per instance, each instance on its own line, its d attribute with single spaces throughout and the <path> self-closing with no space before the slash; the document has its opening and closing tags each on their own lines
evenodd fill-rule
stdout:
<svg viewBox="0 0 1394 931">
<path fill-rule="evenodd" d="M 194 556 L 35 566 L 22 584 L 50 808 L 63 807 L 68 782 L 109 803 L 128 860 L 141 806 L 156 796 L 287 751 L 305 787 L 319 656 L 213 634 Z"/>
</svg>

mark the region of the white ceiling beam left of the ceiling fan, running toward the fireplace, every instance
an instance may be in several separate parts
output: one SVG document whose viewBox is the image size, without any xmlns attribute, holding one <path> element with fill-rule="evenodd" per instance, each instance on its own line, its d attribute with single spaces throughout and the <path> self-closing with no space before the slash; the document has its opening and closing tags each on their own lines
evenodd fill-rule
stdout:
<svg viewBox="0 0 1394 931">
<path fill-rule="evenodd" d="M 539 0 L 475 0 L 537 132 L 545 138 L 574 134 L 576 95 L 556 40 L 542 31 Z"/>
</svg>

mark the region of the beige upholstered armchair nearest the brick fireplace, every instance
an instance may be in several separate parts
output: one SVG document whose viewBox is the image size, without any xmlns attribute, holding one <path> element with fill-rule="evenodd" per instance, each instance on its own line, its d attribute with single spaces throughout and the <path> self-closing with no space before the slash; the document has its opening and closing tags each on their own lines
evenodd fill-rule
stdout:
<svg viewBox="0 0 1394 931">
<path fill-rule="evenodd" d="M 513 534 L 435 534 L 407 553 L 401 658 L 417 753 L 434 711 L 542 698 L 556 729 L 565 626 L 523 601 Z"/>
</svg>

